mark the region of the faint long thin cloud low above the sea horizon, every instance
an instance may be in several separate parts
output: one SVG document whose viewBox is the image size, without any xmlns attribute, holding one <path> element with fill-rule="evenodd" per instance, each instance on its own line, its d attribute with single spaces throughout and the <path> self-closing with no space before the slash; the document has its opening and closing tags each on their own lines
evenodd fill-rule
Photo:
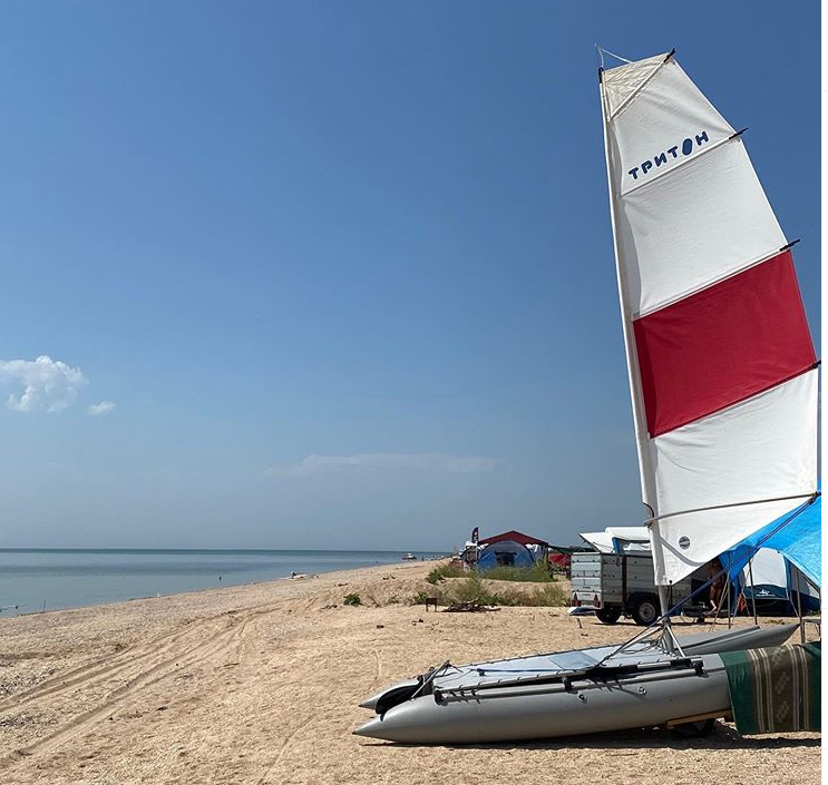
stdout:
<svg viewBox="0 0 828 785">
<path fill-rule="evenodd" d="M 496 461 L 480 455 L 441 453 L 361 452 L 354 455 L 308 455 L 291 467 L 271 467 L 272 477 L 309 477 L 334 471 L 415 470 L 474 473 L 494 471 Z"/>
</svg>

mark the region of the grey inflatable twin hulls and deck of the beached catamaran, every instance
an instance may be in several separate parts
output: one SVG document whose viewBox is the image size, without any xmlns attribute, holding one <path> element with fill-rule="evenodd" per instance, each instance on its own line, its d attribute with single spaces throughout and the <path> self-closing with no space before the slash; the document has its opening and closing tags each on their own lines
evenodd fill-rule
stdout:
<svg viewBox="0 0 828 785">
<path fill-rule="evenodd" d="M 617 647 L 444 666 L 361 705 L 359 736 L 401 744 L 486 744 L 622 730 L 730 710 L 721 658 L 778 646 L 796 625 L 679 638 L 684 656 Z"/>
</svg>

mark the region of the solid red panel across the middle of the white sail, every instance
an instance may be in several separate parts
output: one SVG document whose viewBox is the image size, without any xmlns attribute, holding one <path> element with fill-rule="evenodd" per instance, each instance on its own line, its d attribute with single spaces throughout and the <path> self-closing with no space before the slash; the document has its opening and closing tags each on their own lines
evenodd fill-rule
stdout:
<svg viewBox="0 0 828 785">
<path fill-rule="evenodd" d="M 789 251 L 633 322 L 651 438 L 816 362 Z"/>
</svg>

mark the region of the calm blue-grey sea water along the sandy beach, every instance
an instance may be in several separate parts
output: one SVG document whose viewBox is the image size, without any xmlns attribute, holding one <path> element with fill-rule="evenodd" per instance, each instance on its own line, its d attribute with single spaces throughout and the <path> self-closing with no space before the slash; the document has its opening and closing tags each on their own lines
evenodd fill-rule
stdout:
<svg viewBox="0 0 828 785">
<path fill-rule="evenodd" d="M 275 580 L 291 572 L 400 563 L 401 556 L 401 551 L 0 549 L 0 618 Z"/>
</svg>

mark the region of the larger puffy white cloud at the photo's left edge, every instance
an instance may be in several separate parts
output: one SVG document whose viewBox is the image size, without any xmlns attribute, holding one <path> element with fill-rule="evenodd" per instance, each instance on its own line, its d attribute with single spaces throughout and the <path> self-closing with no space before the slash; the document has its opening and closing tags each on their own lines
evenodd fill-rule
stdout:
<svg viewBox="0 0 828 785">
<path fill-rule="evenodd" d="M 0 385 L 19 386 L 10 393 L 6 405 L 16 412 L 59 412 L 70 406 L 87 379 L 78 367 L 71 367 L 46 354 L 37 360 L 0 360 Z"/>
</svg>

